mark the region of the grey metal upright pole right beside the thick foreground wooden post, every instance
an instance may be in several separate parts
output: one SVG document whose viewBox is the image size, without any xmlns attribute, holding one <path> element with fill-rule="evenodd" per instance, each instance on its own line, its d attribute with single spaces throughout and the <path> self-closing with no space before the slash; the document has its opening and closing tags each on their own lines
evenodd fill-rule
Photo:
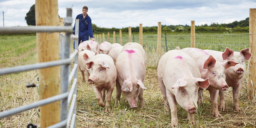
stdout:
<svg viewBox="0 0 256 128">
<path fill-rule="evenodd" d="M 64 22 L 67 26 L 71 26 L 72 23 L 72 9 L 67 8 L 67 18 L 64 18 Z M 63 58 L 66 59 L 69 57 L 69 50 L 70 50 L 70 42 L 71 42 L 71 32 L 66 32 L 65 34 L 65 42 L 64 42 L 64 56 Z M 64 65 L 62 74 L 62 84 L 61 84 L 61 93 L 68 92 L 68 76 L 69 76 L 69 65 Z M 60 121 L 63 121 L 68 116 L 68 99 L 63 99 L 60 102 Z"/>
</svg>

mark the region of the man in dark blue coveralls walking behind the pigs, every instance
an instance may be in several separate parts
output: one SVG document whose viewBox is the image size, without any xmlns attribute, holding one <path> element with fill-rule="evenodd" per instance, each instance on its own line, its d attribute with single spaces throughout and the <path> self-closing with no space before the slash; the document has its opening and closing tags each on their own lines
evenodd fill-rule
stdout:
<svg viewBox="0 0 256 128">
<path fill-rule="evenodd" d="M 82 10 L 82 14 L 79 14 L 76 16 L 76 19 L 79 19 L 79 35 L 78 35 L 78 45 L 83 41 L 89 40 L 89 36 L 92 41 L 95 41 L 93 38 L 93 33 L 92 33 L 92 20 L 91 18 L 87 15 L 88 12 L 88 7 L 84 6 Z M 76 24 L 75 24 L 76 26 Z M 73 33 L 75 35 L 75 26 L 73 28 Z M 75 41 L 74 41 L 74 49 L 75 49 Z"/>
</svg>

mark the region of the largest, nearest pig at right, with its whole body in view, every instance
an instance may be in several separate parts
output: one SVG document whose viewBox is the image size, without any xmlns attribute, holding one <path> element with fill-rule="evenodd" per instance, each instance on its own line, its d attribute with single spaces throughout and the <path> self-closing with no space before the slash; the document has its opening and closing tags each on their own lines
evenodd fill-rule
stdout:
<svg viewBox="0 0 256 128">
<path fill-rule="evenodd" d="M 195 124 L 198 88 L 205 89 L 210 85 L 209 78 L 201 78 L 196 61 L 180 50 L 168 51 L 158 62 L 157 76 L 164 109 L 167 112 L 171 110 L 172 126 L 178 126 L 177 102 L 188 112 L 189 124 Z"/>
</svg>

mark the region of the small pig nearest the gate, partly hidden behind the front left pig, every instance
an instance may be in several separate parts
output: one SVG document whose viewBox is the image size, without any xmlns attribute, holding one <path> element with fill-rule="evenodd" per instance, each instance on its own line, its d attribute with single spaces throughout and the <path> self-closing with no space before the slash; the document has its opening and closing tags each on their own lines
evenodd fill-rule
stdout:
<svg viewBox="0 0 256 128">
<path fill-rule="evenodd" d="M 85 81 L 85 76 L 84 76 L 84 72 L 87 76 L 87 78 L 89 78 L 89 71 L 87 69 L 86 66 L 86 62 L 90 61 L 92 59 L 93 56 L 99 54 L 99 52 L 92 52 L 90 50 L 83 50 L 80 52 L 81 54 L 78 55 L 78 62 L 77 62 L 77 66 L 78 69 L 80 70 L 81 74 L 82 74 L 82 79 L 83 81 Z"/>
</svg>

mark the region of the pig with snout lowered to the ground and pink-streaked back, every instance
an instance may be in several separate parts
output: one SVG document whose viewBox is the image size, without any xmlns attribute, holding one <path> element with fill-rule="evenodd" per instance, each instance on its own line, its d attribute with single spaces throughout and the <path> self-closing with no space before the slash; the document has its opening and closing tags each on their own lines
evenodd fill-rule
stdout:
<svg viewBox="0 0 256 128">
<path fill-rule="evenodd" d="M 140 107 L 145 106 L 143 91 L 146 74 L 146 53 L 143 47 L 135 42 L 124 44 L 116 59 L 116 101 L 117 107 L 121 93 L 128 101 L 130 108 L 137 108 L 139 98 Z"/>
</svg>

